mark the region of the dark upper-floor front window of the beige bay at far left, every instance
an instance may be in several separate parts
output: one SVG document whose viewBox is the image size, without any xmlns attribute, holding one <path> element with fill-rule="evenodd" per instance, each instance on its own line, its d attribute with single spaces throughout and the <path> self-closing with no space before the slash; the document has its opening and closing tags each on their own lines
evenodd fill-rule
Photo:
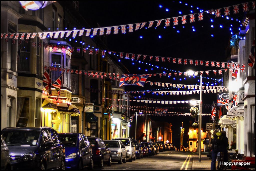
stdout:
<svg viewBox="0 0 256 171">
<path fill-rule="evenodd" d="M 30 71 L 30 41 L 22 41 L 18 48 L 18 71 Z"/>
</svg>

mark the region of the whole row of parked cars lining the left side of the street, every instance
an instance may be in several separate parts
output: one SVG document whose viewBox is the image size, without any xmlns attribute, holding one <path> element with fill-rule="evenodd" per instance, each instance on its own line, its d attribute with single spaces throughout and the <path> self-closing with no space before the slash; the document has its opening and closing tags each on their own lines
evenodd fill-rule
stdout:
<svg viewBox="0 0 256 171">
<path fill-rule="evenodd" d="M 102 140 L 82 133 L 57 133 L 51 127 L 4 128 L 1 131 L 1 169 L 82 169 L 132 162 L 159 154 L 162 143 L 131 138 Z"/>
</svg>

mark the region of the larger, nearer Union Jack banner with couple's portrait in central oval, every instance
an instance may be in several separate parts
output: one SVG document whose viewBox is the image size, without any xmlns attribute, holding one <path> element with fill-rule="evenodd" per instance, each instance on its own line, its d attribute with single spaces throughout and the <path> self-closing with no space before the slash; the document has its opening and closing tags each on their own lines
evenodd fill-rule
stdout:
<svg viewBox="0 0 256 171">
<path fill-rule="evenodd" d="M 148 74 L 122 74 L 119 87 L 127 85 L 138 85 L 144 87 Z"/>
</svg>

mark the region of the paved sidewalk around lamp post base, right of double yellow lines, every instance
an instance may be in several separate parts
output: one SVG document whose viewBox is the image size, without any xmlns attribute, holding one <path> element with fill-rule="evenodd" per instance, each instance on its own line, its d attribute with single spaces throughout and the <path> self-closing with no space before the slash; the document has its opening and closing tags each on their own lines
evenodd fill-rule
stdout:
<svg viewBox="0 0 256 171">
<path fill-rule="evenodd" d="M 211 159 L 201 155 L 201 162 L 198 162 L 198 155 L 193 155 L 192 170 L 211 170 Z"/>
</svg>

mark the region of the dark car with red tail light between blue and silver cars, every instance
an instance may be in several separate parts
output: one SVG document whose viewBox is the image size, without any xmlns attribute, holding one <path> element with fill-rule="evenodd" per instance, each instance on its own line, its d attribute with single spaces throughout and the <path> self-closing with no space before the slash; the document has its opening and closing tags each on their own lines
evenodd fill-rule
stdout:
<svg viewBox="0 0 256 171">
<path fill-rule="evenodd" d="M 101 138 L 91 136 L 87 136 L 87 139 L 92 147 L 93 163 L 98 164 L 99 167 L 102 167 L 103 163 L 111 166 L 111 152 L 106 147 L 104 141 Z"/>
</svg>

